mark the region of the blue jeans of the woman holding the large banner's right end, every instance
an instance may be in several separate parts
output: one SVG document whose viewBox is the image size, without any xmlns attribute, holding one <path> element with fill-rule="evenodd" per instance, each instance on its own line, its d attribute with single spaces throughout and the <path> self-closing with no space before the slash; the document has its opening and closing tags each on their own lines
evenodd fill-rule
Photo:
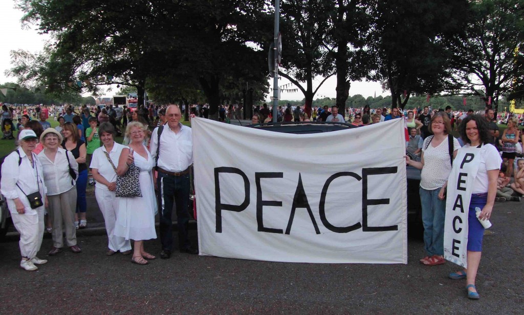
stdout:
<svg viewBox="0 0 524 315">
<path fill-rule="evenodd" d="M 428 256 L 444 255 L 444 218 L 446 200 L 440 200 L 440 188 L 434 190 L 419 189 L 422 206 L 422 224 L 424 225 L 424 249 Z"/>
</svg>

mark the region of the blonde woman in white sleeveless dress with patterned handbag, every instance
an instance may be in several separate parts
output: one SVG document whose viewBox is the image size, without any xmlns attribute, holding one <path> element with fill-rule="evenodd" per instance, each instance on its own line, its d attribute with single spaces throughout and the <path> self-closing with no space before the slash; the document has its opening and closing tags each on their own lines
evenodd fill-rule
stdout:
<svg viewBox="0 0 524 315">
<path fill-rule="evenodd" d="M 131 122 L 127 125 L 126 136 L 130 139 L 130 143 L 128 147 L 122 149 L 116 168 L 118 176 L 123 176 L 133 163 L 140 168 L 138 181 L 142 197 L 119 198 L 114 232 L 116 236 L 135 241 L 131 261 L 139 265 L 146 265 L 148 263 L 146 259 L 156 258 L 144 251 L 144 240 L 157 238 L 155 231 L 157 202 L 151 171 L 155 161 L 144 146 L 146 132 L 146 126 L 139 122 Z"/>
</svg>

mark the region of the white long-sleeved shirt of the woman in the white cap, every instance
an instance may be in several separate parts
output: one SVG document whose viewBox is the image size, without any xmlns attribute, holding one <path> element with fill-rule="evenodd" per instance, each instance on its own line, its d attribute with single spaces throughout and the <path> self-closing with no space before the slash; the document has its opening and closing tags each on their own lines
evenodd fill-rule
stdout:
<svg viewBox="0 0 524 315">
<path fill-rule="evenodd" d="M 7 199 L 7 207 L 11 213 L 18 213 L 14 199 L 19 198 L 24 204 L 25 214 L 35 215 L 37 214 L 37 209 L 31 209 L 26 194 L 37 192 L 38 188 L 40 188 L 43 202 L 47 190 L 42 177 L 42 165 L 35 154 L 32 154 L 33 166 L 24 150 L 18 149 L 18 152 L 20 156 L 14 151 L 4 159 L 2 164 L 2 181 L 0 181 L 2 188 L 0 191 Z M 21 163 L 18 165 L 20 158 Z M 16 186 L 16 184 L 20 187 Z"/>
</svg>

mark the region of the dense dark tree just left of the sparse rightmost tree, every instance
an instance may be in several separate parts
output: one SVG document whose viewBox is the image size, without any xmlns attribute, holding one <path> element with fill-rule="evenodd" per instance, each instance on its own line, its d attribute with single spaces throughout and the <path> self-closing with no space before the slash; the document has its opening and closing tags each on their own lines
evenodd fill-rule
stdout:
<svg viewBox="0 0 524 315">
<path fill-rule="evenodd" d="M 412 93 L 434 94 L 451 77 L 451 51 L 444 39 L 463 29 L 467 1 L 384 0 L 374 11 L 369 48 L 376 71 L 372 78 L 391 93 L 391 107 L 406 106 Z M 402 96 L 404 96 L 402 100 Z"/>
</svg>

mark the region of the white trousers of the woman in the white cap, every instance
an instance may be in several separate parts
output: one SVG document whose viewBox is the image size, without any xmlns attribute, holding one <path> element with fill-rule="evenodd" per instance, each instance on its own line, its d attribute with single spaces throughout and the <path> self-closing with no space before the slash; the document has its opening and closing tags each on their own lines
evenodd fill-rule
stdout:
<svg viewBox="0 0 524 315">
<path fill-rule="evenodd" d="M 20 254 L 29 259 L 36 256 L 40 251 L 43 238 L 43 207 L 35 209 L 37 214 L 27 215 L 11 213 L 11 219 L 20 233 Z"/>
</svg>

